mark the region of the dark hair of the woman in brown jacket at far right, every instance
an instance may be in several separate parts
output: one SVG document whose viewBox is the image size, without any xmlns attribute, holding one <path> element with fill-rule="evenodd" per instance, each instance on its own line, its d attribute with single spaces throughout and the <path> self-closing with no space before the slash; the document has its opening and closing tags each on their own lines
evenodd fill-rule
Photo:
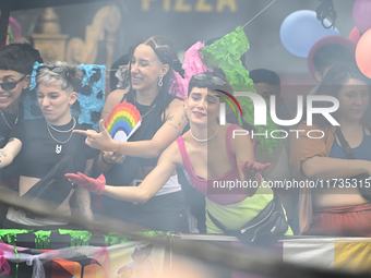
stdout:
<svg viewBox="0 0 371 278">
<path fill-rule="evenodd" d="M 370 101 L 369 106 L 366 109 L 362 118 L 361 123 L 370 128 L 371 126 L 371 80 L 364 76 L 360 70 L 358 69 L 357 64 L 348 64 L 348 65 L 334 65 L 330 69 L 326 76 L 323 78 L 316 95 L 323 96 L 333 96 L 338 99 L 338 92 L 343 88 L 344 85 L 350 78 L 359 80 L 364 82 L 369 88 L 369 96 Z M 320 102 L 318 107 L 328 107 L 328 102 Z M 338 111 L 333 113 L 334 118 L 338 117 Z M 322 116 L 322 114 L 313 114 L 313 122 L 318 125 L 330 125 L 330 122 Z"/>
</svg>

